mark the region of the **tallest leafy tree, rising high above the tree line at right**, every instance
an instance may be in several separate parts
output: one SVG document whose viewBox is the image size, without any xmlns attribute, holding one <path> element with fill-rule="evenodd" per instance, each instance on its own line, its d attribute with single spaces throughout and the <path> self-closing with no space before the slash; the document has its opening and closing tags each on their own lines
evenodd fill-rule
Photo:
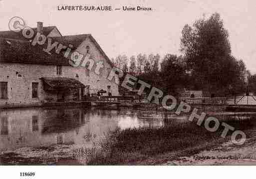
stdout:
<svg viewBox="0 0 256 179">
<path fill-rule="evenodd" d="M 184 52 L 196 88 L 224 91 L 236 78 L 228 31 L 219 13 L 196 20 L 193 27 L 182 30 L 181 51 Z M 231 75 L 231 76 L 227 76 Z M 229 79 L 229 80 L 227 80 Z"/>
</svg>

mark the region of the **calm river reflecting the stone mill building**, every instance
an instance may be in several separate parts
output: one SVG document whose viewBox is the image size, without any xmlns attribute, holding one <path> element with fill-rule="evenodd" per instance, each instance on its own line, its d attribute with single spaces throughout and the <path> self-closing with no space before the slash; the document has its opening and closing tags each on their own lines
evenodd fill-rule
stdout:
<svg viewBox="0 0 256 179">
<path fill-rule="evenodd" d="M 213 113 L 220 120 L 243 120 L 255 113 Z M 188 116 L 171 115 L 171 125 Z M 169 125 L 170 125 L 169 124 Z M 0 165 L 41 164 L 35 158 L 52 152 L 90 148 L 111 131 L 166 125 L 161 112 L 132 109 L 26 108 L 0 111 Z M 27 159 L 27 160 L 25 160 Z M 31 159 L 34 160 L 31 162 Z M 52 161 L 51 161 L 52 162 Z M 45 163 L 51 164 L 51 163 Z M 58 162 L 52 162 L 58 164 Z M 71 162 L 67 162 L 71 164 Z"/>
</svg>

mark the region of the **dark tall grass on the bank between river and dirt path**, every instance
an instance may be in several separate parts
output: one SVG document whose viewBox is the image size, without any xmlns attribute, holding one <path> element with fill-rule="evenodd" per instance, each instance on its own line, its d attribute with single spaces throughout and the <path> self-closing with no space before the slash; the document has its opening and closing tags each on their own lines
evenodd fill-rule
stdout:
<svg viewBox="0 0 256 179">
<path fill-rule="evenodd" d="M 236 130 L 247 131 L 255 126 L 254 120 L 229 119 L 225 122 Z M 230 140 L 232 132 L 225 139 L 220 137 L 223 130 L 224 127 L 220 127 L 217 132 L 209 132 L 204 125 L 198 126 L 194 122 L 175 125 L 167 123 L 160 128 L 117 130 L 99 146 L 95 144 L 93 149 L 79 151 L 80 156 L 83 156 L 80 162 L 87 165 L 130 165 L 176 151 L 183 152 L 172 159 L 191 156 Z M 250 137 L 250 134 L 247 136 Z"/>
</svg>

